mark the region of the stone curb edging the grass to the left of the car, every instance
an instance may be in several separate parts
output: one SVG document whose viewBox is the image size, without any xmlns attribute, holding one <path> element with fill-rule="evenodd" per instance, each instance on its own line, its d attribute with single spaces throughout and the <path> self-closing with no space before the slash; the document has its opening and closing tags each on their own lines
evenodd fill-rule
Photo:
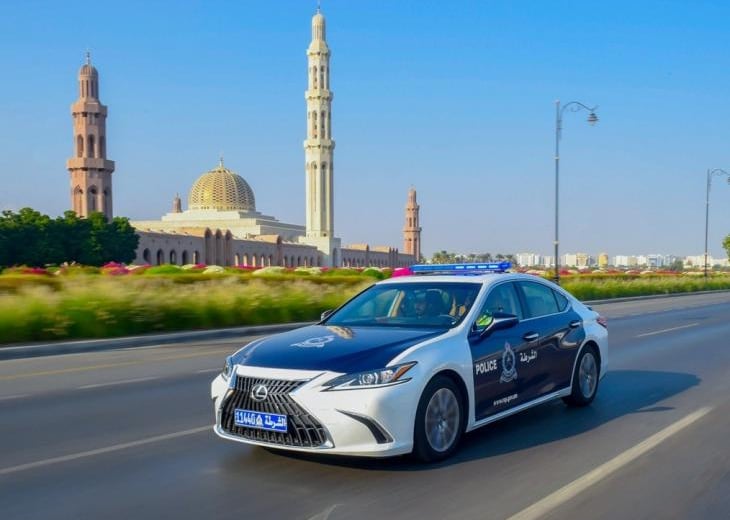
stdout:
<svg viewBox="0 0 730 520">
<path fill-rule="evenodd" d="M 151 347 L 155 345 L 169 345 L 171 343 L 181 341 L 210 341 L 257 334 L 274 334 L 277 332 L 286 332 L 305 325 L 311 325 L 312 323 L 313 322 L 280 323 L 275 325 L 232 327 L 228 329 L 146 334 L 143 336 L 125 336 L 121 338 L 16 345 L 12 347 L 0 346 L 0 361 L 40 356 L 57 356 L 61 354 L 78 354 L 83 352 L 100 352 L 103 350 L 116 350 L 122 348 Z"/>
</svg>

